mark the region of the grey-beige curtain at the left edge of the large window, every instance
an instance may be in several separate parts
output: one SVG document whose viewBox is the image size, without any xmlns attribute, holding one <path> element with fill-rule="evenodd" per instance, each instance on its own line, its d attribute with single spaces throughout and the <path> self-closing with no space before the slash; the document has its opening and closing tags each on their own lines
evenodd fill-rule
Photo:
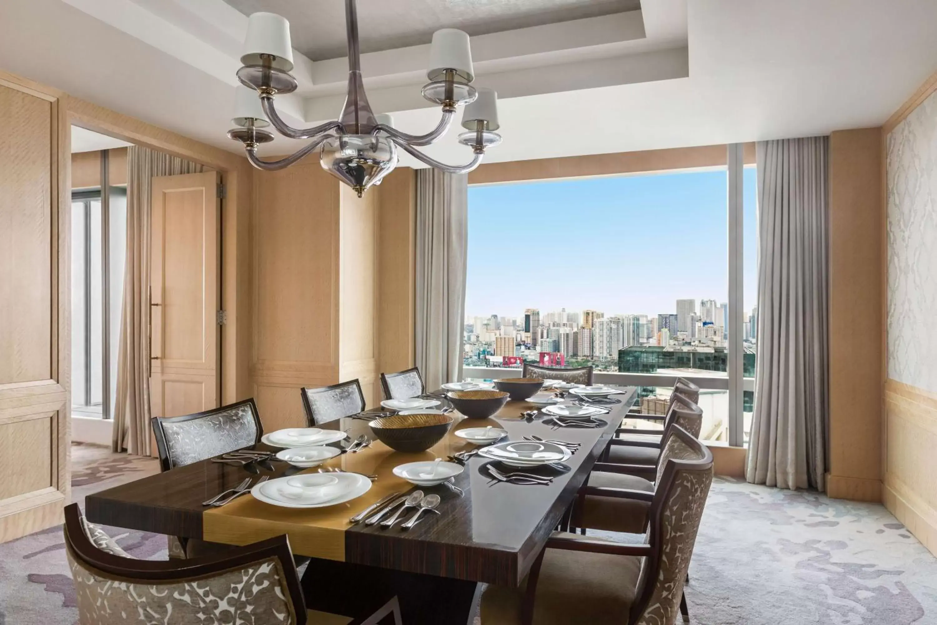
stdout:
<svg viewBox="0 0 937 625">
<path fill-rule="evenodd" d="M 462 379 L 468 175 L 416 172 L 416 365 L 427 389 Z"/>
</svg>

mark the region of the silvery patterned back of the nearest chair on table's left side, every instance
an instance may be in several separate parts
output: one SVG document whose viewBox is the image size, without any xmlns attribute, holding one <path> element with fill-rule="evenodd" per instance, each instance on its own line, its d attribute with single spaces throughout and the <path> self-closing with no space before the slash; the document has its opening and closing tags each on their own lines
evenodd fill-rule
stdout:
<svg viewBox="0 0 937 625">
<path fill-rule="evenodd" d="M 253 399 L 182 417 L 153 417 L 150 423 L 164 471 L 255 445 L 263 436 Z"/>
</svg>

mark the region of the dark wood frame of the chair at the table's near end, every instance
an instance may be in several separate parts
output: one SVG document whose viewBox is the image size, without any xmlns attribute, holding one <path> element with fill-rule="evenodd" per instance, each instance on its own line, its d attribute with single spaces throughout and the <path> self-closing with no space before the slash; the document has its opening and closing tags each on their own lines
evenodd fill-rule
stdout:
<svg viewBox="0 0 937 625">
<path fill-rule="evenodd" d="M 67 549 L 86 565 L 102 573 L 124 580 L 139 580 L 165 583 L 182 582 L 214 573 L 224 573 L 236 567 L 246 566 L 270 558 L 279 560 L 284 583 L 290 591 L 290 603 L 295 612 L 295 625 L 306 625 L 305 598 L 300 586 L 299 574 L 293 564 L 290 539 L 284 534 L 258 543 L 238 547 L 237 552 L 224 556 L 187 558 L 183 560 L 142 560 L 124 558 L 99 549 L 87 537 L 82 528 L 82 510 L 77 503 L 65 508 L 65 543 Z M 394 623 L 400 625 L 400 606 L 393 597 L 373 615 L 355 618 L 351 625 L 378 625 L 387 616 L 394 614 Z"/>
</svg>

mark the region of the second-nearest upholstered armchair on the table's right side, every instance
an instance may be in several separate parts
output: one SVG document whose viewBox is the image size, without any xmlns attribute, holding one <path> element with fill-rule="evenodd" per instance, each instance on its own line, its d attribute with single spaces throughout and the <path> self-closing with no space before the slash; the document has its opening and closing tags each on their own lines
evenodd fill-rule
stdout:
<svg viewBox="0 0 937 625">
<path fill-rule="evenodd" d="M 653 467 L 597 462 L 573 505 L 571 526 L 628 534 L 644 533 L 649 497 L 669 458 L 702 443 L 677 424 L 667 426 L 659 462 Z M 704 446 L 705 447 L 705 446 Z"/>
</svg>

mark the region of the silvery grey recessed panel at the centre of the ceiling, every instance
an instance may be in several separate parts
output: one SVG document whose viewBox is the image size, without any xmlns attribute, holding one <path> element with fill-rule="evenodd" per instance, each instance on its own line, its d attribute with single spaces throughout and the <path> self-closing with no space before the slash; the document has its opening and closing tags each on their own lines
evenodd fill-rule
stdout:
<svg viewBox="0 0 937 625">
<path fill-rule="evenodd" d="M 314 61 L 346 55 L 340 0 L 225 0 L 250 15 L 270 11 L 290 21 L 293 48 Z M 599 17 L 641 8 L 640 0 L 358 0 L 362 52 L 429 43 L 439 28 L 469 35 Z"/>
</svg>

